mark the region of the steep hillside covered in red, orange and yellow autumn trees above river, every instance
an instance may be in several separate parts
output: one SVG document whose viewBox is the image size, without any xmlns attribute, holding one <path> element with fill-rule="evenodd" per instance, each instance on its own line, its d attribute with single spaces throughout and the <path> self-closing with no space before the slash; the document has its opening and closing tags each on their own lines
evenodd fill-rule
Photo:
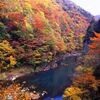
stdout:
<svg viewBox="0 0 100 100">
<path fill-rule="evenodd" d="M 36 68 L 58 52 L 82 48 L 87 16 L 70 1 L 57 2 L 0 0 L 1 69 L 27 64 Z"/>
</svg>

